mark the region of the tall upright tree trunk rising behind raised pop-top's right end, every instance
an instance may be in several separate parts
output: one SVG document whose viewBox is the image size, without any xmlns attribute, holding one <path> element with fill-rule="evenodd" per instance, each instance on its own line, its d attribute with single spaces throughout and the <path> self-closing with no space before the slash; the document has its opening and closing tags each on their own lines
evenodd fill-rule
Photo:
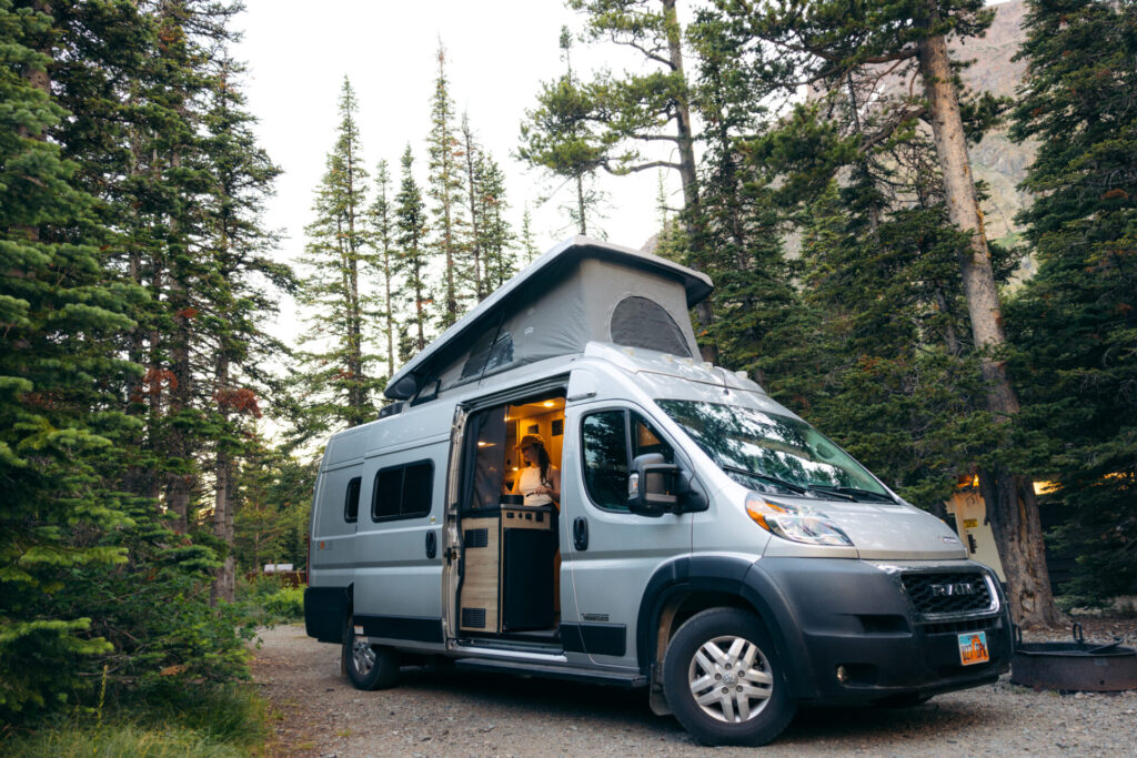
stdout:
<svg viewBox="0 0 1137 758">
<path fill-rule="evenodd" d="M 683 78 L 682 34 L 679 27 L 679 17 L 675 14 L 675 0 L 663 0 L 663 18 L 667 30 L 667 56 L 671 60 L 671 69 L 680 78 Z M 683 225 L 687 231 L 688 244 L 695 252 L 690 264 L 695 270 L 702 270 L 702 250 L 706 240 L 703 233 L 703 216 L 699 213 L 699 185 L 696 174 L 698 164 L 695 161 L 695 140 L 691 135 L 691 108 L 686 94 L 680 95 L 675 101 L 675 128 L 679 136 L 679 180 L 683 186 Z M 714 311 L 711 308 L 709 298 L 695 306 L 695 316 L 699 322 L 699 334 L 711 334 Z M 719 348 L 715 344 L 705 344 L 699 350 L 704 360 L 717 363 Z"/>
</svg>

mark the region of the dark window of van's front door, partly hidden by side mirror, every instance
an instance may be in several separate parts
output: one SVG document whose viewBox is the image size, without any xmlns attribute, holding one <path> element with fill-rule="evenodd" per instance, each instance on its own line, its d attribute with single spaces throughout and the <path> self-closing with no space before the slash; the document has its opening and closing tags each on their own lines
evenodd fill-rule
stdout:
<svg viewBox="0 0 1137 758">
<path fill-rule="evenodd" d="M 629 432 L 631 432 L 629 434 Z M 628 469 L 632 458 L 661 452 L 672 459 L 664 442 L 642 416 L 626 410 L 604 410 L 581 424 L 584 486 L 592 502 L 607 510 L 628 510 Z"/>
</svg>

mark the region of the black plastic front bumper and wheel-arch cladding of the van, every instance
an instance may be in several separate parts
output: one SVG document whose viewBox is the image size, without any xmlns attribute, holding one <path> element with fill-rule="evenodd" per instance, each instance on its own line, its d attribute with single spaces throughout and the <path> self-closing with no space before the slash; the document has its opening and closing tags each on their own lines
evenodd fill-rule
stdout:
<svg viewBox="0 0 1137 758">
<path fill-rule="evenodd" d="M 800 699 L 866 701 L 991 682 L 1011 665 L 1006 603 L 999 594 L 994 611 L 924 618 L 902 577 L 938 568 L 897 561 L 883 570 L 855 559 L 764 558 L 747 572 L 744 594 L 777 625 L 772 632 Z M 985 573 L 977 564 L 962 570 Z M 999 592 L 997 582 L 991 584 Z M 971 632 L 984 633 L 989 659 L 965 666 L 960 635 Z"/>
</svg>

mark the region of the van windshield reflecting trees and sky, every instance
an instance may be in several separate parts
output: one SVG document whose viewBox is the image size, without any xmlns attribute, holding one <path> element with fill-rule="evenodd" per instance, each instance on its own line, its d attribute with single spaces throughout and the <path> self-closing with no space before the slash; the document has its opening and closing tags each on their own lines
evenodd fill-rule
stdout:
<svg viewBox="0 0 1137 758">
<path fill-rule="evenodd" d="M 894 502 L 872 474 L 805 422 L 716 402 L 656 402 L 744 486 Z"/>
</svg>

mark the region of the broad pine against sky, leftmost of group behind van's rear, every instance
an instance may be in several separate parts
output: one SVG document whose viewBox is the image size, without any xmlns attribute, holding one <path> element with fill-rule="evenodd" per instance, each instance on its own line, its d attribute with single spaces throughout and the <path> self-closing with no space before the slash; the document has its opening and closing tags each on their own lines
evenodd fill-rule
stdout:
<svg viewBox="0 0 1137 758">
<path fill-rule="evenodd" d="M 383 384 L 372 373 L 374 356 L 365 344 L 370 303 L 360 277 L 370 260 L 367 173 L 357 107 L 355 90 L 345 77 L 335 147 L 316 191 L 316 219 L 305 230 L 308 244 L 301 263 L 308 276 L 299 301 L 313 313 L 305 342 L 317 343 L 317 351 L 305 355 L 305 382 L 316 399 L 308 409 L 308 433 L 323 434 L 339 424 L 356 426 L 373 418 L 374 393 Z"/>
</svg>

